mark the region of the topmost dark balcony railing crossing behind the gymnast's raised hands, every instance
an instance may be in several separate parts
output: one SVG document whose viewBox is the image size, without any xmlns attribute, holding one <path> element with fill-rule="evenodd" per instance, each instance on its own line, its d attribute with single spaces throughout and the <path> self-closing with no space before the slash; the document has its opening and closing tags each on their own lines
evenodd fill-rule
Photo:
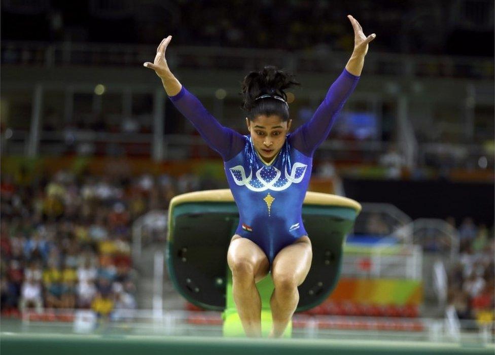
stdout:
<svg viewBox="0 0 495 355">
<path fill-rule="evenodd" d="M 43 43 L 2 41 L 2 64 L 88 66 L 142 65 L 156 46 L 97 43 Z M 246 70 L 266 63 L 298 73 L 340 72 L 349 53 L 326 50 L 174 46 L 167 60 L 171 67 Z M 493 79 L 493 59 L 373 52 L 367 57 L 369 75 Z"/>
</svg>

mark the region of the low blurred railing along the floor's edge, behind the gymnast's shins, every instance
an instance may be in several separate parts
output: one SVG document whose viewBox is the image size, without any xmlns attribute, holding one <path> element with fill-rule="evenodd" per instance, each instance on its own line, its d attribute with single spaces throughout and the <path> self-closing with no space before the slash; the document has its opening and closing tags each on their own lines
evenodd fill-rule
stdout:
<svg viewBox="0 0 495 355">
<path fill-rule="evenodd" d="M 221 336 L 222 315 L 216 311 L 167 309 L 129 310 L 123 316 L 110 316 L 104 325 L 97 322 L 91 310 L 45 309 L 42 313 L 27 310 L 22 314 L 24 332 L 57 332 L 63 334 L 96 332 L 102 327 L 107 334 L 133 335 L 204 335 Z M 71 324 L 72 327 L 67 325 Z M 447 318 L 364 317 L 341 315 L 307 315 L 293 317 L 294 338 L 381 339 L 398 341 L 455 342 L 492 344 L 493 322 L 475 319 L 449 322 Z M 98 328 L 97 328 L 98 327 Z"/>
</svg>

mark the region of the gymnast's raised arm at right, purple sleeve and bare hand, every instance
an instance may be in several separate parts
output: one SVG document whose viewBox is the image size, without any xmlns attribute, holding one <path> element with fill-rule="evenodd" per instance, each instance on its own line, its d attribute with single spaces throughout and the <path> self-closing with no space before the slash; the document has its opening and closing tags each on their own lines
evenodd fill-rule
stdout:
<svg viewBox="0 0 495 355">
<path fill-rule="evenodd" d="M 299 127 L 290 136 L 292 145 L 307 156 L 312 156 L 315 149 L 330 133 L 337 114 L 358 84 L 364 65 L 364 57 L 368 52 L 368 44 L 376 37 L 374 33 L 366 37 L 358 21 L 350 15 L 347 18 L 351 22 L 355 34 L 352 55 L 342 74 L 330 86 L 325 99 L 316 109 L 311 120 Z"/>
</svg>

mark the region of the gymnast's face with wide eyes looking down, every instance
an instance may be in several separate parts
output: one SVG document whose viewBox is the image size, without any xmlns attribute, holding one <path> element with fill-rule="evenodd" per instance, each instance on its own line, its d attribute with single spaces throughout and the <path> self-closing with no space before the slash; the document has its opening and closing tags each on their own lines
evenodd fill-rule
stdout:
<svg viewBox="0 0 495 355">
<path fill-rule="evenodd" d="M 286 141 L 292 120 L 282 121 L 277 115 L 257 116 L 253 121 L 246 118 L 251 140 L 265 162 L 270 162 Z"/>
</svg>

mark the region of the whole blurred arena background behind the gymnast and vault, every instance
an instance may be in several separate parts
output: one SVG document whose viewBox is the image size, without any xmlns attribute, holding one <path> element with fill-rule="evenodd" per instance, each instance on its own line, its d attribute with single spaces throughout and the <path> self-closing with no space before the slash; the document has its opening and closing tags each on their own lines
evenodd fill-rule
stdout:
<svg viewBox="0 0 495 355">
<path fill-rule="evenodd" d="M 242 134 L 243 77 L 285 68 L 297 127 L 350 57 L 351 14 L 377 37 L 310 190 L 363 211 L 336 290 L 294 336 L 492 342 L 493 1 L 228 5 L 2 1 L 2 327 L 221 334 L 163 252 L 170 199 L 227 188 L 223 163 L 143 63 L 171 34 L 174 75 Z"/>
</svg>

